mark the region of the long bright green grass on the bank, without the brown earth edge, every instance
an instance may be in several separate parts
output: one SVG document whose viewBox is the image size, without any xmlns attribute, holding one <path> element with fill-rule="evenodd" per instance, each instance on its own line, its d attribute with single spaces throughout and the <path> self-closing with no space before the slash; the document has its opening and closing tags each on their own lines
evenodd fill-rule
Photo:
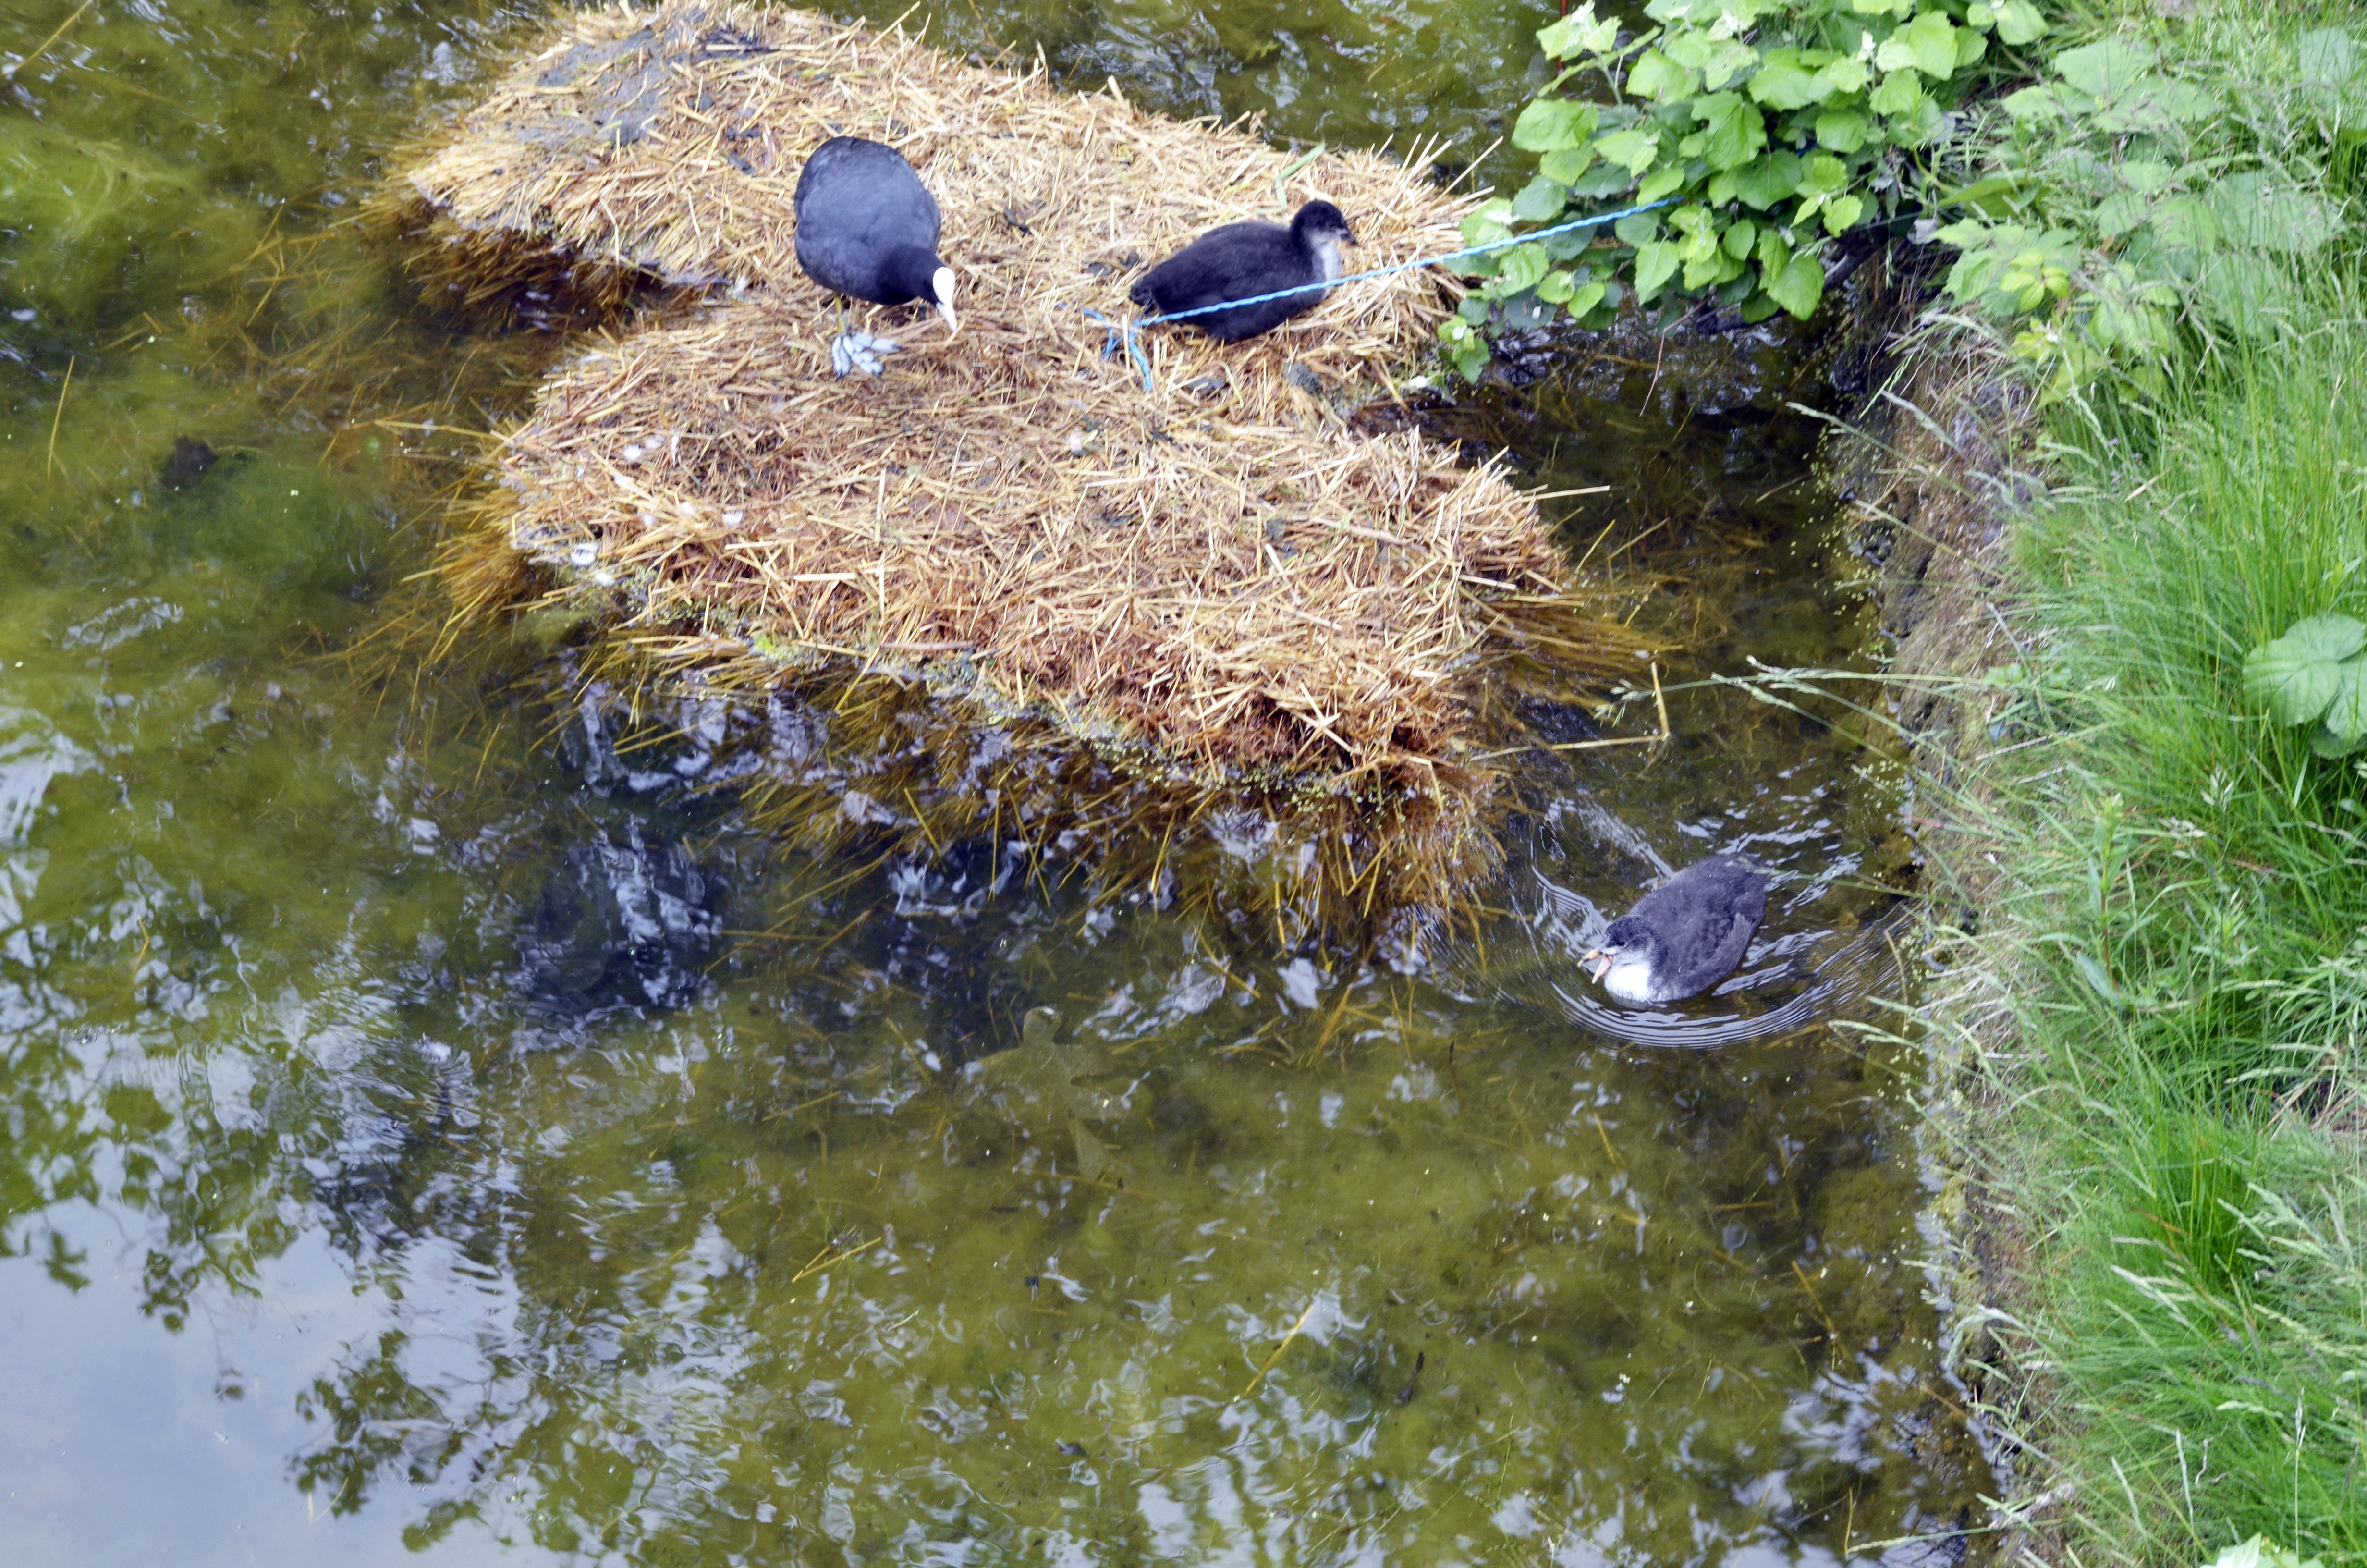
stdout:
<svg viewBox="0 0 2367 1568">
<path fill-rule="evenodd" d="M 2239 675 L 2367 611 L 2358 301 L 2322 287 L 2310 329 L 2090 429 L 2021 519 L 1984 947 L 2085 1563 L 2367 1561 L 2367 770 Z"/>
</svg>

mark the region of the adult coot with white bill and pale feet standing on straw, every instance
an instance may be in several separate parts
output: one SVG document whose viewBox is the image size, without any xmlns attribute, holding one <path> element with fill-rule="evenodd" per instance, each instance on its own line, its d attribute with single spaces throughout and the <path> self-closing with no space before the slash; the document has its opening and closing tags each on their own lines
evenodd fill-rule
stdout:
<svg viewBox="0 0 2367 1568">
<path fill-rule="evenodd" d="M 902 152 L 859 135 L 833 135 L 798 175 L 798 265 L 824 289 L 902 306 L 925 298 L 954 332 L 954 270 L 937 261 L 942 220 L 937 199 Z M 847 332 L 840 320 L 831 367 L 878 374 L 881 353 L 895 343 Z"/>
</svg>

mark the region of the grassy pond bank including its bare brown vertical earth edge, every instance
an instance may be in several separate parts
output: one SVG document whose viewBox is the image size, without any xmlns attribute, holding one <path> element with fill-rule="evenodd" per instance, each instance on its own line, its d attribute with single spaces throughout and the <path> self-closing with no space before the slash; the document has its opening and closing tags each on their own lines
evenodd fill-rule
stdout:
<svg viewBox="0 0 2367 1568">
<path fill-rule="evenodd" d="M 2367 1551 L 2358 784 L 2239 677 L 2358 606 L 2360 306 L 2308 306 L 2085 433 L 1927 327 L 1834 464 L 1917 751 L 1931 1125 L 2007 1556 Z"/>
</svg>

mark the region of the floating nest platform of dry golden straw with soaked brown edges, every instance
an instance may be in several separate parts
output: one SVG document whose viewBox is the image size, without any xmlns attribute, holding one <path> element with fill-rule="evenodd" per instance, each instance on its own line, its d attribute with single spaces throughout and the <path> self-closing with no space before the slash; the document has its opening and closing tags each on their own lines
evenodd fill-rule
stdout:
<svg viewBox="0 0 2367 1568">
<path fill-rule="evenodd" d="M 831 135 L 914 161 L 959 277 L 959 334 L 847 317 L 902 343 L 878 379 L 831 374 L 840 306 L 791 251 Z M 1498 467 L 1352 429 L 1456 279 L 1344 284 L 1250 343 L 1120 336 L 1146 263 L 1314 197 L 1361 268 L 1453 249 L 1472 206 L 1420 147 L 1292 156 L 897 31 L 570 17 L 381 197 L 431 289 L 672 291 L 499 441 L 452 545 L 462 609 L 580 625 L 592 668 L 826 696 L 828 756 L 776 791 L 810 834 L 1027 822 L 1162 883 L 1193 827 L 1252 860 L 1252 810 L 1283 905 L 1451 902 L 1486 860 L 1489 654 L 1584 685 L 1638 642 Z"/>
</svg>

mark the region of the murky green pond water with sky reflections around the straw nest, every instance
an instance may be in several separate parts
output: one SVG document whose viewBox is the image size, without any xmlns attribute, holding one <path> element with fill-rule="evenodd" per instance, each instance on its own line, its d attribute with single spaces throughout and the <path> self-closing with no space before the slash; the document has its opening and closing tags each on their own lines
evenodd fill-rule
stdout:
<svg viewBox="0 0 2367 1568">
<path fill-rule="evenodd" d="M 1470 156 L 1548 12 L 928 14 Z M 1555 507 L 1685 649 L 1413 973 L 788 855 L 705 786 L 793 711 L 620 753 L 559 658 L 343 656 L 549 353 L 343 220 L 521 28 L 0 2 L 0 1561 L 1979 1559 L 1922 1059 L 1827 1028 L 1905 985 L 1898 784 L 1685 687 L 1865 642 L 1785 412 L 1834 351 L 1439 415 L 1617 486 Z M 1780 876 L 1740 995 L 1614 1023 L 1574 947 L 1711 848 Z"/>
</svg>

